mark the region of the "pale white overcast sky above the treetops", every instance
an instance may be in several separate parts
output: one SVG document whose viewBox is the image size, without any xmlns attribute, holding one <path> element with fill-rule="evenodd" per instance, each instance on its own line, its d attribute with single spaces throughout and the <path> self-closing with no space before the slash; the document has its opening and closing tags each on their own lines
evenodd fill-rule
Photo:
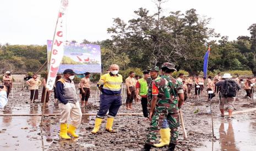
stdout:
<svg viewBox="0 0 256 151">
<path fill-rule="evenodd" d="M 61 0 L 1 0 L 0 43 L 44 45 L 53 38 Z M 200 16 L 212 18 L 209 27 L 221 36 L 235 40 L 247 35 L 256 23 L 256 2 L 249 0 L 170 0 L 165 12 L 194 8 Z M 151 0 L 69 0 L 67 39 L 82 42 L 110 38 L 107 28 L 113 18 L 124 21 L 135 18 L 134 10 L 143 7 L 156 11 Z"/>
</svg>

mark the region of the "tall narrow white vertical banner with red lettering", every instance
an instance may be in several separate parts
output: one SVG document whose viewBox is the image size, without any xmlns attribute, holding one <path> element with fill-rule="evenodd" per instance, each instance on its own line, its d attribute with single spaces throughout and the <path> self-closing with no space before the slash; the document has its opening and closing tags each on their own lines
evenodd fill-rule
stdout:
<svg viewBox="0 0 256 151">
<path fill-rule="evenodd" d="M 63 29 L 64 29 L 64 17 L 66 16 L 66 10 L 68 7 L 68 0 L 61 1 L 61 8 L 59 9 L 57 24 L 55 28 L 55 34 L 53 36 L 53 44 L 50 51 L 50 58 L 48 62 L 48 76 L 46 88 L 49 90 L 53 89 L 53 85 L 55 84 L 55 79 L 57 76 L 57 72 L 59 69 L 59 65 L 61 65 L 62 57 L 64 54 L 63 51 Z"/>
</svg>

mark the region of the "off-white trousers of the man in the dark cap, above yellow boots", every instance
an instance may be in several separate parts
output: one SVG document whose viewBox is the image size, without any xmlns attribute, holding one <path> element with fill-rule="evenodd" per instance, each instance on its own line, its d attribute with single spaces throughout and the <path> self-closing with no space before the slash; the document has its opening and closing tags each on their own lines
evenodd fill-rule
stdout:
<svg viewBox="0 0 256 151">
<path fill-rule="evenodd" d="M 59 109 L 61 109 L 61 119 L 59 120 L 59 123 L 68 123 L 68 118 L 70 118 L 70 124 L 79 127 L 82 118 L 79 101 L 77 101 L 77 103 L 59 103 L 58 105 Z"/>
</svg>

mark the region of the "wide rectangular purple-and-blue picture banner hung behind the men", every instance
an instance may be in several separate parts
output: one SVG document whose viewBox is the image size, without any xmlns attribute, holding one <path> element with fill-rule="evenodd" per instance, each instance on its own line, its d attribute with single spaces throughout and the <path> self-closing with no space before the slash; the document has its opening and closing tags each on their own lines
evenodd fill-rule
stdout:
<svg viewBox="0 0 256 151">
<path fill-rule="evenodd" d="M 52 40 L 47 40 L 47 51 L 50 53 Z M 101 50 L 100 45 L 83 43 L 66 43 L 64 46 L 62 63 L 58 73 L 65 69 L 73 69 L 75 73 L 85 72 L 101 73 Z"/>
</svg>

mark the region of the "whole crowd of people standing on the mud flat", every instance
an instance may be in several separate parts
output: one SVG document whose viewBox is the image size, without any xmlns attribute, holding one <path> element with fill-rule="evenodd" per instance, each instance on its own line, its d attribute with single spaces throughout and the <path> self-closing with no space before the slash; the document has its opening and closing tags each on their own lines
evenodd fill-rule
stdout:
<svg viewBox="0 0 256 151">
<path fill-rule="evenodd" d="M 91 133 L 96 134 L 100 130 L 102 120 L 107 114 L 106 131 L 116 132 L 112 129 L 114 119 L 122 105 L 122 83 L 123 77 L 118 73 L 119 66 L 113 64 L 106 74 L 102 75 L 97 86 L 101 91 L 100 109 L 97 112 L 94 129 Z M 145 121 L 150 123 L 149 133 L 145 136 L 145 146 L 143 150 L 150 150 L 152 146 L 168 146 L 168 150 L 175 150 L 178 140 L 179 127 L 179 109 L 183 106 L 187 98 L 192 98 L 192 89 L 194 86 L 194 95 L 200 100 L 200 96 L 205 89 L 209 92 L 209 100 L 216 95 L 220 97 L 221 117 L 224 117 L 225 106 L 228 109 L 227 119 L 232 119 L 232 111 L 238 91 L 241 87 L 247 92 L 246 97 L 252 97 L 252 86 L 255 78 L 247 78 L 246 82 L 238 76 L 235 80 L 231 74 L 225 73 L 221 76 L 218 73 L 213 79 L 201 78 L 199 75 L 185 77 L 179 73 L 178 78 L 172 77 L 176 71 L 175 65 L 165 62 L 159 68 L 152 66 L 150 69 L 143 71 L 143 77 L 136 75 L 135 72 L 129 72 L 125 84 L 127 88 L 126 109 L 133 109 L 133 101 L 141 102 L 141 108 Z M 72 69 L 66 69 L 63 75 L 58 74 L 54 85 L 55 103 L 58 103 L 61 110 L 60 132 L 59 136 L 64 139 L 79 137 L 75 130 L 81 123 L 81 108 L 88 106 L 90 97 L 90 75 L 84 73 L 85 77 L 79 83 L 79 97 L 73 82 L 75 72 Z M 42 82 L 37 74 L 26 75 L 24 78 L 30 90 L 30 101 L 37 100 L 39 97 L 39 85 L 43 85 L 41 102 L 49 101 L 51 91 L 47 91 L 47 75 L 42 76 Z M 8 98 L 13 85 L 13 78 L 10 72 L 6 72 L 3 77 L 4 86 L 0 88 L 0 94 L 6 92 Z M 211 91 L 211 93 L 210 93 Z M 80 100 L 80 101 L 79 101 Z M 68 119 L 71 119 L 68 124 Z M 160 132 L 161 141 L 156 144 L 157 132 Z M 69 136 L 69 135 L 70 136 Z"/>
</svg>

